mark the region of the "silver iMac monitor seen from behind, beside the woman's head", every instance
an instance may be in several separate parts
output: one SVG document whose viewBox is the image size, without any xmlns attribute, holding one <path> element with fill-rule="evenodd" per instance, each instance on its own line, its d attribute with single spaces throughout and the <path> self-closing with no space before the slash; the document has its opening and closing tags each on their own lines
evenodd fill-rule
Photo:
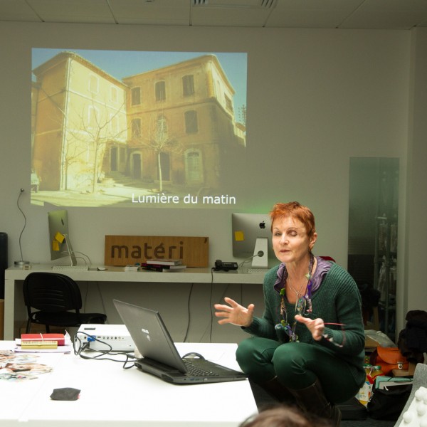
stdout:
<svg viewBox="0 0 427 427">
<path fill-rule="evenodd" d="M 268 214 L 231 214 L 233 256 L 252 258 L 252 268 L 268 268 L 274 258 Z"/>
</svg>

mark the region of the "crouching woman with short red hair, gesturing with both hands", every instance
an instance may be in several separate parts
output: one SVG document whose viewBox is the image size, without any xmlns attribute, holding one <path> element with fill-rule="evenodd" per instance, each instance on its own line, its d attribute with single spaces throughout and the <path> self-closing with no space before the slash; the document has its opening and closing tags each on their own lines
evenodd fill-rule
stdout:
<svg viewBox="0 0 427 427">
<path fill-rule="evenodd" d="M 296 401 L 339 426 L 335 404 L 355 396 L 365 379 L 359 290 L 346 270 L 313 255 L 317 233 L 310 209 L 280 203 L 270 217 L 280 265 L 265 274 L 263 317 L 253 315 L 253 304 L 243 307 L 228 297 L 215 305 L 215 314 L 220 325 L 252 335 L 236 352 L 249 379 L 279 401 Z"/>
</svg>

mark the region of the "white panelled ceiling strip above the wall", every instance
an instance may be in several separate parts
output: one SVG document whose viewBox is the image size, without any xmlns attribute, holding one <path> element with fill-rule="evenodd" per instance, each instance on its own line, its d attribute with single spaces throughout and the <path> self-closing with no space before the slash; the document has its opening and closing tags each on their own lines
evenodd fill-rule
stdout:
<svg viewBox="0 0 427 427">
<path fill-rule="evenodd" d="M 0 21 L 408 30 L 427 0 L 0 0 Z"/>
</svg>

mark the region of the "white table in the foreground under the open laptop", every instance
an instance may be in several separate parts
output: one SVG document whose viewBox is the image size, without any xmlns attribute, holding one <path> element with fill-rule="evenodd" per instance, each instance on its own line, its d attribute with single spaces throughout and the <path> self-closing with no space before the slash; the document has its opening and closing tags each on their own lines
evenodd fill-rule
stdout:
<svg viewBox="0 0 427 427">
<path fill-rule="evenodd" d="M 236 344 L 176 347 L 181 355 L 196 351 L 238 369 Z M 13 342 L 0 342 L 0 348 L 13 348 Z M 122 363 L 74 354 L 43 354 L 40 363 L 51 364 L 53 371 L 29 381 L 0 380 L 0 427 L 22 422 L 28 427 L 236 427 L 257 412 L 248 380 L 176 386 L 136 368 L 122 369 Z M 80 399 L 51 400 L 53 389 L 63 387 L 80 389 Z"/>
</svg>

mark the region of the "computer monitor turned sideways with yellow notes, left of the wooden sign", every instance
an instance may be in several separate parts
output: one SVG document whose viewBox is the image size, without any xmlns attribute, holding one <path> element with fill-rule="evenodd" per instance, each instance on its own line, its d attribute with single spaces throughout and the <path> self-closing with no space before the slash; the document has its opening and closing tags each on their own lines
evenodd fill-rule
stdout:
<svg viewBox="0 0 427 427">
<path fill-rule="evenodd" d="M 48 226 L 51 260 L 70 257 L 71 265 L 77 265 L 68 231 L 68 212 L 65 210 L 48 212 Z"/>
</svg>

